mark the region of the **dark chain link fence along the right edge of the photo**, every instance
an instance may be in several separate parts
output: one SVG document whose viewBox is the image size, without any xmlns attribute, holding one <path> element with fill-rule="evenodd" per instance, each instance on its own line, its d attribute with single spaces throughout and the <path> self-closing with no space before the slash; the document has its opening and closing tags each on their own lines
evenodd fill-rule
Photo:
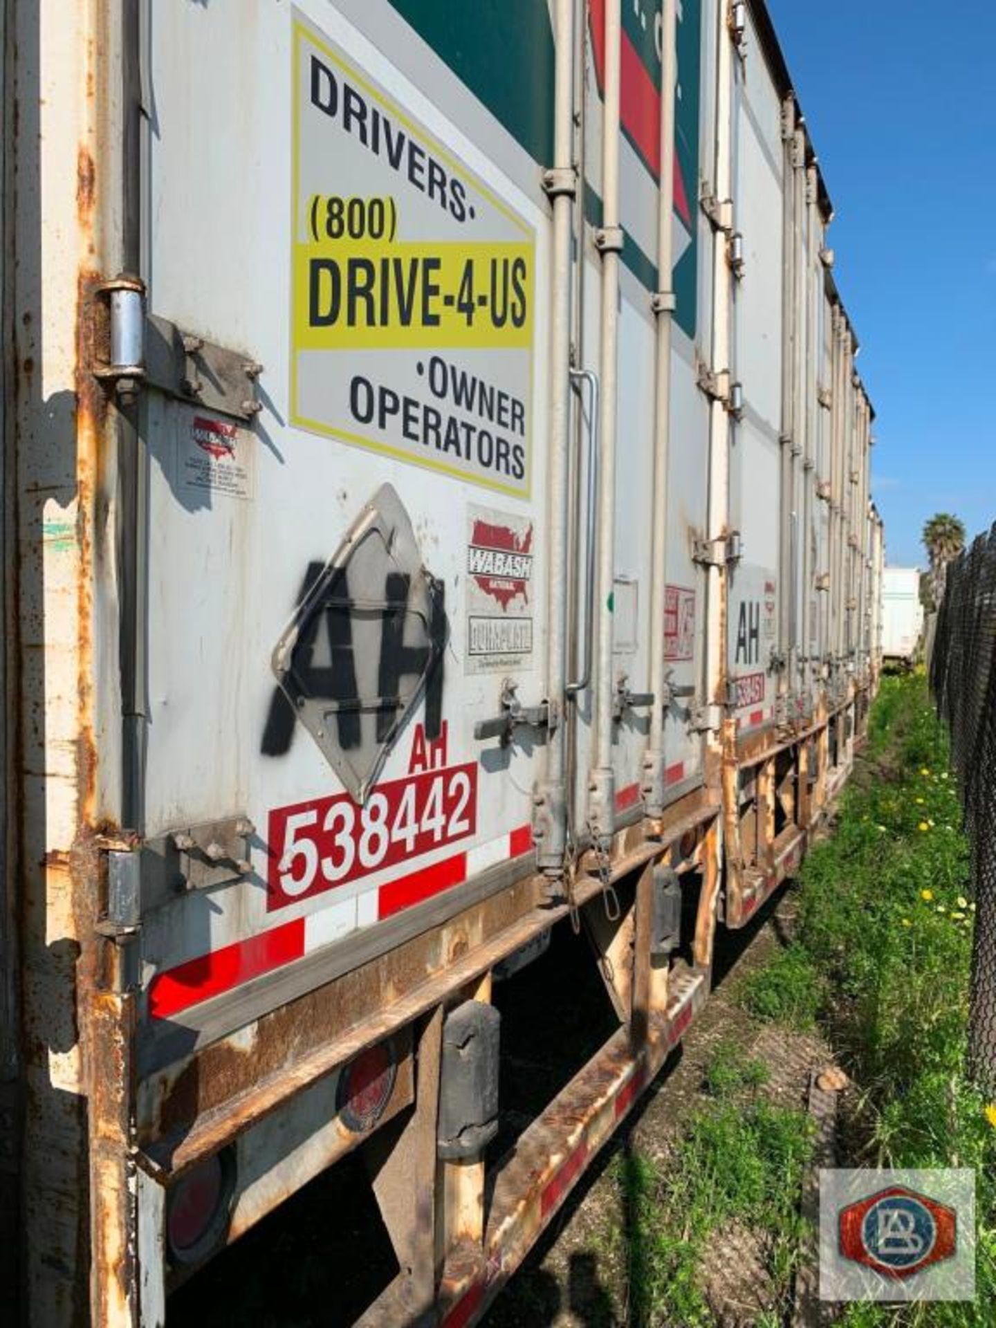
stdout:
<svg viewBox="0 0 996 1328">
<path fill-rule="evenodd" d="M 969 1069 L 996 1092 L 996 526 L 947 568 L 930 681 L 951 730 L 976 899 Z"/>
</svg>

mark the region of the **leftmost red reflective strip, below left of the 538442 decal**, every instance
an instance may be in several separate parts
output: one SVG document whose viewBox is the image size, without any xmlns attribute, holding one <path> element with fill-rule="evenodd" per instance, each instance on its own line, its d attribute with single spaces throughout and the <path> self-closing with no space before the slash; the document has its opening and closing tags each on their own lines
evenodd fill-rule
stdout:
<svg viewBox="0 0 996 1328">
<path fill-rule="evenodd" d="M 260 932 L 250 940 L 212 950 L 157 973 L 149 985 L 150 1019 L 170 1019 L 190 1005 L 219 996 L 304 956 L 304 919 Z"/>
</svg>

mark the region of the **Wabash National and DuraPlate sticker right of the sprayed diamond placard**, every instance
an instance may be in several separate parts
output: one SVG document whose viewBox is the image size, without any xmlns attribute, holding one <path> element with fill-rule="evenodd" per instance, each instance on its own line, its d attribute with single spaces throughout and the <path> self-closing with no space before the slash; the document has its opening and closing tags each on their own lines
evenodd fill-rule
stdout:
<svg viewBox="0 0 996 1328">
<path fill-rule="evenodd" d="M 529 517 L 467 513 L 467 673 L 531 664 L 534 527 Z"/>
</svg>

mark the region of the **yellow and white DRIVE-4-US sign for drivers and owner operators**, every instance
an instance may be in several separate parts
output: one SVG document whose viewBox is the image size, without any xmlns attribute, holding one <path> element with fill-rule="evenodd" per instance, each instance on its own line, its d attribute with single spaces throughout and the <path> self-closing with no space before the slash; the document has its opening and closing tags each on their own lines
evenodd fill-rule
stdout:
<svg viewBox="0 0 996 1328">
<path fill-rule="evenodd" d="M 535 232 L 300 17 L 291 417 L 527 495 Z"/>
</svg>

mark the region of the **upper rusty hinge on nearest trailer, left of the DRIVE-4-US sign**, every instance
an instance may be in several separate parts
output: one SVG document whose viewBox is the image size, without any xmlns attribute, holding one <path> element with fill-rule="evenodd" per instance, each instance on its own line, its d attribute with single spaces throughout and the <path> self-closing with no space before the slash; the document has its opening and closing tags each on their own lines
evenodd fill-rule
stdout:
<svg viewBox="0 0 996 1328">
<path fill-rule="evenodd" d="M 90 369 L 122 405 L 142 388 L 155 388 L 235 420 L 254 420 L 263 409 L 256 392 L 263 365 L 149 313 L 145 283 L 129 275 L 96 288 Z"/>
</svg>

